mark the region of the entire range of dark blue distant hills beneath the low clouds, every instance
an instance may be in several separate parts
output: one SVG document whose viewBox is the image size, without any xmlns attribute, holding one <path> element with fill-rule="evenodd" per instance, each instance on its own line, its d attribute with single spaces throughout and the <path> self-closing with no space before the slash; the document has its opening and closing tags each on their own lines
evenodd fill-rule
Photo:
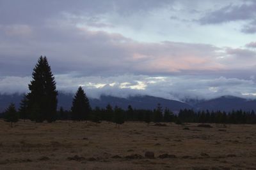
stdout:
<svg viewBox="0 0 256 170">
<path fill-rule="evenodd" d="M 58 95 L 58 107 L 62 106 L 65 110 L 70 110 L 72 105 L 73 94 L 61 93 Z M 19 108 L 20 100 L 22 95 L 20 94 L 2 94 L 0 95 L 0 112 L 4 111 L 10 103 L 15 103 Z M 169 99 L 163 99 L 161 97 L 153 96 L 134 96 L 120 98 L 113 96 L 101 96 L 100 99 L 90 99 L 92 108 L 99 106 L 105 108 L 107 104 L 111 106 L 119 106 L 123 109 L 127 109 L 127 106 L 131 104 L 132 108 L 136 109 L 149 109 L 156 108 L 157 104 L 160 103 L 163 108 L 169 108 L 172 111 L 179 111 L 180 109 L 194 109 L 194 110 L 221 110 L 221 111 L 232 111 L 232 110 L 244 110 L 244 111 L 256 111 L 256 101 L 247 100 L 240 97 L 234 96 L 222 96 L 216 99 L 210 100 L 189 100 L 186 103 L 180 101 L 174 101 Z"/>
</svg>

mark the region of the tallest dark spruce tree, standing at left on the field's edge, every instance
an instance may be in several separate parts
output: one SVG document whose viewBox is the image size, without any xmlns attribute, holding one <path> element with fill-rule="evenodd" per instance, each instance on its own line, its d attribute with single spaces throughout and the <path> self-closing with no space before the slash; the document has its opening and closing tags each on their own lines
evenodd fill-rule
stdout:
<svg viewBox="0 0 256 170">
<path fill-rule="evenodd" d="M 56 82 L 46 57 L 40 57 L 33 69 L 33 80 L 29 84 L 28 112 L 36 122 L 53 122 L 57 114 Z"/>
</svg>

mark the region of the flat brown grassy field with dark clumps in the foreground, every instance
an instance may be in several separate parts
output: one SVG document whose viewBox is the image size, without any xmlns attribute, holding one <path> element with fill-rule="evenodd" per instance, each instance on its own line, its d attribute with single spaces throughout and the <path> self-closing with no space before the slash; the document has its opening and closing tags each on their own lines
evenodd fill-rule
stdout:
<svg viewBox="0 0 256 170">
<path fill-rule="evenodd" d="M 256 125 L 166 125 L 0 120 L 0 169 L 256 169 Z"/>
</svg>

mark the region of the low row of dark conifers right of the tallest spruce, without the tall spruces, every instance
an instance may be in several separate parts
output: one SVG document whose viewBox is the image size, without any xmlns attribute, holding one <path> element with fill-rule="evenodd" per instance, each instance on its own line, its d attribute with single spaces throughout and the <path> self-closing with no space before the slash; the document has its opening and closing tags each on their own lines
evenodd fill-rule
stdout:
<svg viewBox="0 0 256 170">
<path fill-rule="evenodd" d="M 60 110 L 57 113 L 58 120 L 72 120 L 72 111 Z M 117 118 L 120 115 L 120 118 Z M 256 115 L 252 111 L 194 111 L 194 110 L 180 110 L 176 115 L 168 108 L 163 109 L 161 104 L 157 104 L 154 110 L 136 110 L 131 105 L 127 107 L 127 110 L 113 108 L 110 104 L 106 108 L 96 107 L 89 112 L 88 117 L 85 120 L 92 122 L 175 122 L 176 124 L 182 123 L 200 123 L 200 124 L 256 124 Z"/>
</svg>

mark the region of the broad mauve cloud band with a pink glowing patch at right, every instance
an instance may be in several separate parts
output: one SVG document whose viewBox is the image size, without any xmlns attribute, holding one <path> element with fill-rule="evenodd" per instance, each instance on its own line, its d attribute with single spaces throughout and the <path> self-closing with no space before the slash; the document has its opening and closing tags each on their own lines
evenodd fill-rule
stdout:
<svg viewBox="0 0 256 170">
<path fill-rule="evenodd" d="M 2 74 L 21 74 L 22 67 L 30 67 L 24 75 L 31 74 L 31 68 L 40 55 L 49 58 L 53 71 L 58 74 L 156 74 L 223 67 L 215 59 L 220 48 L 212 45 L 172 41 L 143 43 L 121 34 L 69 25 L 31 27 L 29 30 L 40 34 L 13 39 L 10 34 L 0 33 Z M 15 63 L 20 66 L 13 67 Z"/>
</svg>

